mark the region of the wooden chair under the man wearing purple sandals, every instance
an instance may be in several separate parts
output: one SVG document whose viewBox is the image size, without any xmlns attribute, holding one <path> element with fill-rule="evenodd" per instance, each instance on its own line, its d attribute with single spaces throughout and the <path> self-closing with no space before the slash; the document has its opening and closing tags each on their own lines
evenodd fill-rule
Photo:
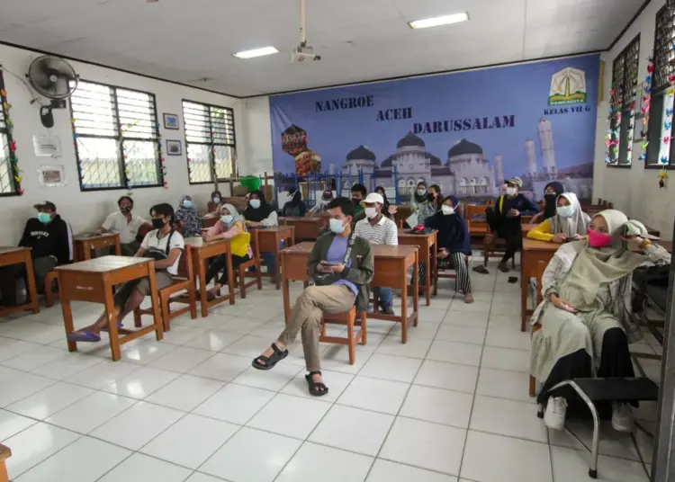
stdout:
<svg viewBox="0 0 675 482">
<path fill-rule="evenodd" d="M 172 295 L 183 290 L 187 290 L 187 295 L 181 295 L 175 297 L 175 299 L 171 299 Z M 197 317 L 197 295 L 194 288 L 194 269 L 191 245 L 185 245 L 184 252 L 181 254 L 180 260 L 178 261 L 178 274 L 174 276 L 174 282 L 166 288 L 157 290 L 157 295 L 159 296 L 159 307 L 161 309 L 164 331 L 169 331 L 171 329 L 171 320 L 173 318 L 179 317 L 188 311 L 190 312 L 190 317 L 192 319 Z M 187 303 L 187 306 L 171 311 L 171 301 L 184 302 Z M 133 310 L 133 322 L 134 326 L 137 328 L 142 326 L 140 317 L 143 315 L 152 317 L 152 308 L 136 308 Z"/>
</svg>

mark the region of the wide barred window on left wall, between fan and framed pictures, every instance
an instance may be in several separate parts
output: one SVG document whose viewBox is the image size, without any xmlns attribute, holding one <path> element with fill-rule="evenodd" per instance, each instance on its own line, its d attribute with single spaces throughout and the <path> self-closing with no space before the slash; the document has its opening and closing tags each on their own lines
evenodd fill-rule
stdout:
<svg viewBox="0 0 675 482">
<path fill-rule="evenodd" d="M 83 82 L 70 97 L 80 189 L 164 184 L 155 95 Z"/>
</svg>

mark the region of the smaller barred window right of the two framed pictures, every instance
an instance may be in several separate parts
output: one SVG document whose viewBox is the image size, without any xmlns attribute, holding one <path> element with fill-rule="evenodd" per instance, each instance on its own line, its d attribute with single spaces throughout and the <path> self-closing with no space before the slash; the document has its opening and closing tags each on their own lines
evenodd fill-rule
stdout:
<svg viewBox="0 0 675 482">
<path fill-rule="evenodd" d="M 227 107 L 183 101 L 185 151 L 191 184 L 237 175 L 234 112 Z"/>
</svg>

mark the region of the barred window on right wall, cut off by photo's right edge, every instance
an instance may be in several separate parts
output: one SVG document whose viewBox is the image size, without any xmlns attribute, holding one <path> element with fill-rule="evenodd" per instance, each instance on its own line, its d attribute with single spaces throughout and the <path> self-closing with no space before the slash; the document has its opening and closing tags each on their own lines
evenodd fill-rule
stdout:
<svg viewBox="0 0 675 482">
<path fill-rule="evenodd" d="M 673 143 L 662 142 L 672 137 L 673 96 L 668 94 L 671 76 L 675 74 L 675 8 L 664 6 L 656 13 L 654 33 L 654 68 L 652 73 L 652 100 L 649 111 L 647 162 L 645 167 L 675 165 Z"/>
</svg>

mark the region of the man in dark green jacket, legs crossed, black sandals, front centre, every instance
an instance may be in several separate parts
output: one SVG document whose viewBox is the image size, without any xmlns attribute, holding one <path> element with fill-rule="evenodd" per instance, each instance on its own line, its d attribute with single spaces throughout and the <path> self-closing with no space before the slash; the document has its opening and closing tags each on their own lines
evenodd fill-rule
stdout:
<svg viewBox="0 0 675 482">
<path fill-rule="evenodd" d="M 295 302 L 286 328 L 265 353 L 253 361 L 254 368 L 270 370 L 288 356 L 288 345 L 298 333 L 309 374 L 305 375 L 314 396 L 329 389 L 321 379 L 319 336 L 323 312 L 343 313 L 356 304 L 360 313 L 368 306 L 368 286 L 373 280 L 374 261 L 370 243 L 352 231 L 354 204 L 347 198 L 329 203 L 330 232 L 317 239 L 311 250 L 307 271 L 311 286 Z"/>
</svg>

